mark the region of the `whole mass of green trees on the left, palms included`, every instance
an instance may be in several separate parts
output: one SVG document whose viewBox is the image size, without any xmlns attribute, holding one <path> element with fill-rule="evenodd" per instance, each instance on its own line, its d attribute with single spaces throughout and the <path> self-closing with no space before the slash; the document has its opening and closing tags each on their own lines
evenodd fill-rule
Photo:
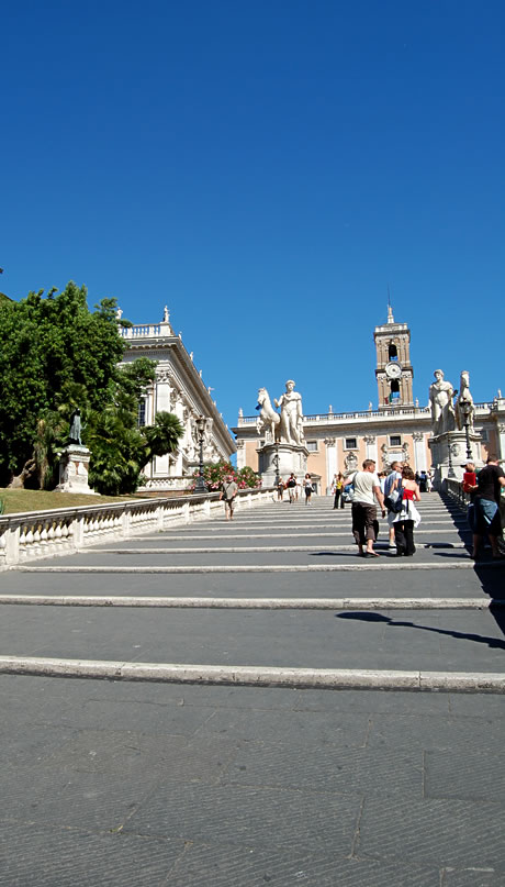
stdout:
<svg viewBox="0 0 505 887">
<path fill-rule="evenodd" d="M 0 300 L 0 486 L 32 459 L 41 487 L 57 483 L 76 407 L 100 492 L 133 491 L 143 466 L 177 447 L 183 430 L 176 417 L 160 413 L 155 426 L 137 428 L 138 401 L 156 364 L 142 358 L 119 366 L 117 323 L 115 299 L 90 311 L 86 287 L 74 282 L 45 298 L 41 290 L 19 302 Z"/>
</svg>

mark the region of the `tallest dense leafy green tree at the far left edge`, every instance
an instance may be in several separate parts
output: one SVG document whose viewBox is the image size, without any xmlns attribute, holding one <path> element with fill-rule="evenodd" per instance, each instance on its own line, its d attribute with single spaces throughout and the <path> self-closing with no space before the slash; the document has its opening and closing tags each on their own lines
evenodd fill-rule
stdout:
<svg viewBox="0 0 505 887">
<path fill-rule="evenodd" d="M 103 299 L 90 311 L 86 287 L 72 282 L 46 298 L 41 290 L 19 302 L 0 301 L 1 486 L 49 434 L 47 424 L 42 431 L 38 422 L 56 428 L 68 422 L 76 406 L 86 413 L 112 400 L 124 353 L 115 309 L 115 299 Z M 42 457 L 42 483 L 54 468 L 52 452 L 46 447 L 48 465 Z"/>
</svg>

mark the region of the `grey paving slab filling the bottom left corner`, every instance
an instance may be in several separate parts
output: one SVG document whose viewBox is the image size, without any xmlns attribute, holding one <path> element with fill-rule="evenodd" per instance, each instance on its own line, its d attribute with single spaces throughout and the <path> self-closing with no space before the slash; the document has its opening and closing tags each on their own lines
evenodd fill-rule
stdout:
<svg viewBox="0 0 505 887">
<path fill-rule="evenodd" d="M 161 887 L 182 841 L 0 823 L 1 887 Z"/>
</svg>

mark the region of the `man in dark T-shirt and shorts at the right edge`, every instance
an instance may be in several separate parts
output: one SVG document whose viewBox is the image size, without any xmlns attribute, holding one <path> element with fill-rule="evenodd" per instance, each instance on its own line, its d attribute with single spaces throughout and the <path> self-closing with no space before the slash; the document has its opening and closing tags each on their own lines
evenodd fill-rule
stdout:
<svg viewBox="0 0 505 887">
<path fill-rule="evenodd" d="M 498 536 L 502 534 L 502 521 L 500 515 L 502 487 L 505 487 L 505 474 L 500 467 L 496 456 L 490 456 L 485 467 L 479 472 L 476 484 L 473 487 L 475 491 L 475 498 L 473 500 L 475 506 L 475 528 L 473 533 L 472 557 L 474 561 L 479 558 L 479 548 L 485 532 L 490 537 L 493 558 L 497 559 L 503 557 L 498 548 Z M 472 490 L 470 490 L 470 492 L 472 492 Z"/>
</svg>

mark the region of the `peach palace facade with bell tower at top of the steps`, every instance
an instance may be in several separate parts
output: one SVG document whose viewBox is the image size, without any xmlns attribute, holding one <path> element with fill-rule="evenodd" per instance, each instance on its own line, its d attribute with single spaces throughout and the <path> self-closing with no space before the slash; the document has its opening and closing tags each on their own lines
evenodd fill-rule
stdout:
<svg viewBox="0 0 505 887">
<path fill-rule="evenodd" d="M 431 410 L 419 407 L 413 396 L 414 368 L 411 362 L 411 331 L 396 323 L 391 307 L 388 321 L 375 326 L 375 379 L 379 409 L 360 412 L 325 412 L 303 417 L 307 472 L 318 492 L 329 490 L 338 472 L 361 466 L 366 458 L 377 462 L 378 470 L 395 459 L 408 461 L 414 470 L 431 467 L 428 441 L 431 436 Z M 474 426 L 481 443 L 474 457 L 485 461 L 489 453 L 505 459 L 505 399 L 475 403 Z M 265 437 L 258 431 L 257 415 L 238 414 L 232 429 L 237 443 L 237 467 L 258 470 L 258 451 Z"/>
</svg>

